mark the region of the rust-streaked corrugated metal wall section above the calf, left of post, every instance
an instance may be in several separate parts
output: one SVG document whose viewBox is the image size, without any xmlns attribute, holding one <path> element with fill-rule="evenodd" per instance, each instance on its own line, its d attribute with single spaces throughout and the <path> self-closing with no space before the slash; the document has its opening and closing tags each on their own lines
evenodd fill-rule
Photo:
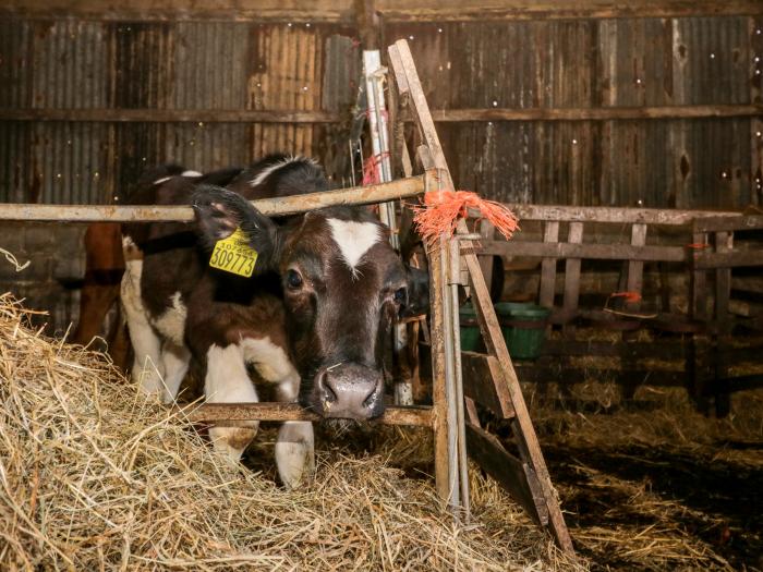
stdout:
<svg viewBox="0 0 763 572">
<path fill-rule="evenodd" d="M 320 110 L 354 102 L 360 51 L 335 24 L 0 20 L 0 109 Z M 337 129 L 219 122 L 0 123 L 0 200 L 112 203 L 148 165 L 197 170 Z"/>
</svg>

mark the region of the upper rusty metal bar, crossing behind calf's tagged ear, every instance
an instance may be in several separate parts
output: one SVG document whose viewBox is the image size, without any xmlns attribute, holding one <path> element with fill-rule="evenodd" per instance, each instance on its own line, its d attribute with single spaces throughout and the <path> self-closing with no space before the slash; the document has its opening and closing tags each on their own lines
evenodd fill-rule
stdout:
<svg viewBox="0 0 763 572">
<path fill-rule="evenodd" d="M 268 216 L 293 215 L 336 205 L 371 205 L 421 195 L 426 188 L 426 180 L 428 178 L 436 178 L 436 173 L 426 172 L 422 175 L 409 177 L 377 185 L 356 186 L 281 198 L 265 198 L 253 200 L 252 204 L 263 215 Z M 190 222 L 193 218 L 193 209 L 185 206 L 0 204 L 0 220 Z"/>
</svg>

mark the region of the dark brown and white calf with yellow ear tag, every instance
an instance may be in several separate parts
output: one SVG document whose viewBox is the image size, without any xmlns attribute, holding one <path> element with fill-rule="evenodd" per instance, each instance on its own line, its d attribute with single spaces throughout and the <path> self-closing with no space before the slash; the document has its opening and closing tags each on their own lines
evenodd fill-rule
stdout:
<svg viewBox="0 0 763 572">
<path fill-rule="evenodd" d="M 276 385 L 279 401 L 299 400 L 324 417 L 383 413 L 386 340 L 397 316 L 425 304 L 426 276 L 402 264 L 388 229 L 366 209 L 332 207 L 276 221 L 247 200 L 326 186 L 313 161 L 283 157 L 144 185 L 133 203 L 192 204 L 196 212 L 193 227 L 125 227 L 122 300 L 133 376 L 144 390 L 174 399 L 194 355 L 206 366 L 209 402 L 258 401 L 252 365 Z M 237 229 L 257 253 L 251 278 L 208 266 L 214 245 Z M 210 437 L 239 459 L 256 429 L 256 423 L 217 427 Z M 296 486 L 313 459 L 312 425 L 284 423 L 276 443 L 283 483 Z"/>
</svg>

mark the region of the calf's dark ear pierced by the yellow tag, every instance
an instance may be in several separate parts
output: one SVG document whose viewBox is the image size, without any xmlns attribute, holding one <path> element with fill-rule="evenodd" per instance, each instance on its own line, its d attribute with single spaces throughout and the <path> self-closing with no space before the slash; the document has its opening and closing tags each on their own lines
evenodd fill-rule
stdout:
<svg viewBox="0 0 763 572">
<path fill-rule="evenodd" d="M 278 226 L 240 194 L 214 185 L 202 185 L 193 194 L 193 209 L 202 246 L 215 243 L 241 229 L 249 245 L 257 252 L 255 273 L 272 270 L 280 251 Z"/>
</svg>

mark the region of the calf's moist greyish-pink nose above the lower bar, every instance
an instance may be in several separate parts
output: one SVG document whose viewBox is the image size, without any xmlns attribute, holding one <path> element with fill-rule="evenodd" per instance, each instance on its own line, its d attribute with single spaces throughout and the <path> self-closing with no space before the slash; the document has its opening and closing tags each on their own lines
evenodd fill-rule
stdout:
<svg viewBox="0 0 763 572">
<path fill-rule="evenodd" d="M 316 405 L 324 417 L 371 419 L 384 412 L 382 372 L 360 364 L 338 364 L 315 379 Z"/>
</svg>

